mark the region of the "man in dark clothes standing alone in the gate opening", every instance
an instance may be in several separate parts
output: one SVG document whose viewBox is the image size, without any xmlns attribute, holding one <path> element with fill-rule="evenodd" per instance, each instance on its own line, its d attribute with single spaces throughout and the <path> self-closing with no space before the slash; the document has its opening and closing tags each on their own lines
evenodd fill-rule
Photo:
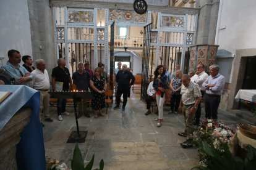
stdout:
<svg viewBox="0 0 256 170">
<path fill-rule="evenodd" d="M 130 81 L 132 80 L 132 81 Z M 120 104 L 120 97 L 123 95 L 124 102 L 122 103 L 122 110 L 126 110 L 126 103 L 127 103 L 127 94 L 130 91 L 130 86 L 134 84 L 135 78 L 130 71 L 127 71 L 127 65 L 122 65 L 122 70 L 119 70 L 116 75 L 116 82 L 117 82 L 117 94 L 116 94 L 116 106 L 114 109 L 119 108 Z"/>
</svg>

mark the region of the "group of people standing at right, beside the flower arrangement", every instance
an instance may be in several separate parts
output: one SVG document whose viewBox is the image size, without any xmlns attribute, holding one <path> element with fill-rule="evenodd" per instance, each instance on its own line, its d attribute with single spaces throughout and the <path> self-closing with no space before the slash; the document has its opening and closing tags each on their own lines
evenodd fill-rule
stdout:
<svg viewBox="0 0 256 170">
<path fill-rule="evenodd" d="M 217 119 L 225 78 L 220 75 L 218 65 L 211 65 L 209 69 L 210 75 L 205 73 L 205 65 L 199 63 L 197 71 L 190 71 L 191 77 L 190 74 L 182 75 L 179 65 L 176 65 L 176 71 L 173 74 L 166 71 L 166 66 L 158 65 L 154 72 L 154 80 L 148 85 L 146 99 L 148 111 L 145 115 L 151 113 L 151 101 L 156 100 L 158 118 L 155 120 L 156 126 L 160 127 L 163 123 L 163 105 L 166 94 L 171 93 L 170 113 L 177 114 L 177 111 L 181 111 L 186 124 L 185 131 L 180 132 L 179 136 L 189 136 L 194 132 L 194 125 L 200 123 L 200 103 L 203 95 L 205 95 L 205 118 Z M 184 148 L 192 147 L 189 140 L 182 142 L 181 145 Z"/>
</svg>

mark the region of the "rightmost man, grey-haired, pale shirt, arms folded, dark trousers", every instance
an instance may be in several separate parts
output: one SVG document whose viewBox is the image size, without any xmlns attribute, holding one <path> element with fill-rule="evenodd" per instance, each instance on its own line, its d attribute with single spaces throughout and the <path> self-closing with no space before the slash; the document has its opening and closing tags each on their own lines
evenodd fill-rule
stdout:
<svg viewBox="0 0 256 170">
<path fill-rule="evenodd" d="M 205 118 L 218 119 L 218 107 L 220 105 L 221 93 L 224 88 L 225 78 L 220 75 L 220 66 L 211 65 L 210 76 L 203 82 L 206 89 L 205 94 Z"/>
</svg>

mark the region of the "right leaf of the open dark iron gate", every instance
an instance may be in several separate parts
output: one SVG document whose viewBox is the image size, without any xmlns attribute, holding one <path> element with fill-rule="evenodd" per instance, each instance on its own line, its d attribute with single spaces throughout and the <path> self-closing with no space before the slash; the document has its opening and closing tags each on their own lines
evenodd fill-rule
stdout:
<svg viewBox="0 0 256 170">
<path fill-rule="evenodd" d="M 147 97 L 148 68 L 150 62 L 150 39 L 151 39 L 151 23 L 144 26 L 143 33 L 143 54 L 142 54 L 142 84 L 140 91 L 140 99 L 145 100 Z M 152 57 L 153 59 L 153 57 Z M 152 67 L 151 67 L 152 70 Z"/>
</svg>

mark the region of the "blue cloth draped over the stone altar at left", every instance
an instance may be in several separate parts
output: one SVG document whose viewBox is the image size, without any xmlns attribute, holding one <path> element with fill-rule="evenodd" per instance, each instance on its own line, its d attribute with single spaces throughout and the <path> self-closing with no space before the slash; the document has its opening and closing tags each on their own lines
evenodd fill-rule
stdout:
<svg viewBox="0 0 256 170">
<path fill-rule="evenodd" d="M 20 134 L 16 160 L 18 169 L 46 169 L 43 129 L 39 120 L 40 92 L 23 85 L 0 85 L 12 94 L 0 104 L 0 130 L 22 107 L 32 108 L 30 122 Z"/>
</svg>

